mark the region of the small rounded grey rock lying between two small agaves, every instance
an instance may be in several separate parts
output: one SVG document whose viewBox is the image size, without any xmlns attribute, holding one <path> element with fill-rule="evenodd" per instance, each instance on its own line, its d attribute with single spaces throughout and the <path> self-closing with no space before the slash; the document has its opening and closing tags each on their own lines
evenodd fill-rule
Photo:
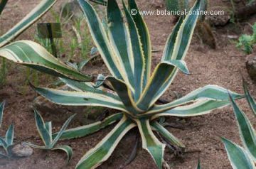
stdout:
<svg viewBox="0 0 256 169">
<path fill-rule="evenodd" d="M 33 154 L 33 149 L 26 145 L 16 144 L 11 148 L 11 153 L 15 157 L 29 157 Z"/>
</svg>

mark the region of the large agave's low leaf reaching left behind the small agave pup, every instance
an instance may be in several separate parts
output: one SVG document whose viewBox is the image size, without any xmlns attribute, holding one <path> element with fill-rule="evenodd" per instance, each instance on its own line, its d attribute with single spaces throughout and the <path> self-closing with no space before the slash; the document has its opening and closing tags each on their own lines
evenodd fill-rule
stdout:
<svg viewBox="0 0 256 169">
<path fill-rule="evenodd" d="M 107 117 L 103 121 L 97 121 L 93 124 L 88 124 L 85 126 L 79 126 L 73 129 L 68 129 L 63 132 L 63 134 L 60 136 L 60 140 L 69 140 L 73 138 L 81 138 L 84 136 L 87 136 L 91 133 L 95 133 L 99 131 L 100 129 L 104 129 L 106 126 L 109 126 L 110 124 L 113 124 L 116 121 L 119 121 L 122 119 L 123 114 L 114 114 L 112 116 Z M 58 133 L 53 134 L 53 138 L 57 136 Z"/>
</svg>

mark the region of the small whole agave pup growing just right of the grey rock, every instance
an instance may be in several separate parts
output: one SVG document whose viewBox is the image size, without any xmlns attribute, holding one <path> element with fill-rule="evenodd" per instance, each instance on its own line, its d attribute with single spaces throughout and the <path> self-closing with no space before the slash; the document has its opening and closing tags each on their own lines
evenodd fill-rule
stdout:
<svg viewBox="0 0 256 169">
<path fill-rule="evenodd" d="M 43 150 L 48 150 L 48 151 L 64 151 L 67 153 L 68 156 L 68 163 L 70 162 L 72 156 L 73 156 L 73 151 L 70 146 L 55 146 L 55 144 L 58 142 L 60 139 L 60 136 L 63 134 L 63 131 L 68 127 L 68 124 L 70 121 L 73 119 L 75 114 L 73 116 L 70 116 L 67 121 L 63 124 L 61 127 L 60 131 L 55 134 L 53 137 L 52 134 L 52 122 L 47 121 L 46 123 L 43 121 L 43 117 L 41 114 L 38 113 L 38 111 L 35 112 L 35 120 L 36 120 L 36 129 L 38 130 L 39 135 L 41 136 L 41 139 L 45 146 L 37 146 L 33 143 L 23 143 L 27 146 L 31 146 L 32 148 L 38 148 L 38 149 L 43 149 Z"/>
</svg>

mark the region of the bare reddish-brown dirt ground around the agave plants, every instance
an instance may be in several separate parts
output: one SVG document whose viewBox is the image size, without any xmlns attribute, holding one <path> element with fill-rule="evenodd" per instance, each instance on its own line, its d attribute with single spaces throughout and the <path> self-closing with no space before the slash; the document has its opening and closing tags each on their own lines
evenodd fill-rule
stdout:
<svg viewBox="0 0 256 169">
<path fill-rule="evenodd" d="M 1 33 L 4 33 L 8 28 L 14 25 L 22 18 L 27 11 L 33 7 L 39 0 L 15 1 L 10 0 L 6 11 L 1 16 L 0 26 Z M 61 3 L 61 1 L 59 2 Z M 159 1 L 139 0 L 139 7 L 144 10 L 164 10 L 163 3 Z M 228 1 L 211 1 L 210 6 L 230 6 Z M 58 6 L 55 7 L 58 11 Z M 50 18 L 44 16 L 42 21 L 50 21 Z M 48 19 L 49 18 L 49 19 Z M 146 23 L 149 26 L 151 33 L 151 41 L 154 49 L 163 50 L 166 38 L 174 28 L 174 18 L 171 16 L 145 16 Z M 248 19 L 247 23 L 255 23 L 256 17 Z M 191 48 L 188 50 L 186 62 L 191 75 L 178 74 L 174 84 L 171 84 L 170 89 L 164 94 L 164 99 L 174 99 L 174 91 L 182 95 L 191 92 L 193 89 L 203 87 L 206 84 L 218 84 L 235 92 L 242 93 L 242 78 L 245 77 L 250 84 L 250 91 L 256 96 L 255 84 L 247 76 L 245 69 L 246 56 L 235 48 L 232 40 L 228 39 L 228 35 L 239 36 L 242 31 L 249 30 L 247 23 L 229 24 L 225 27 L 213 28 L 218 43 L 218 48 L 213 50 L 201 44 L 196 36 L 193 37 Z M 33 39 L 35 26 L 28 29 L 18 39 Z M 161 52 L 154 53 L 154 66 L 159 62 Z M 15 124 L 15 143 L 30 141 L 40 144 L 35 122 L 33 119 L 33 110 L 31 108 L 33 99 L 36 94 L 29 87 L 26 92 L 21 92 L 21 86 L 24 84 L 23 68 L 10 64 L 8 78 L 6 84 L 0 89 L 0 101 L 6 99 L 6 109 L 4 111 L 4 124 L 1 127 L 1 134 L 4 134 L 7 127 Z M 102 67 L 87 67 L 87 69 L 101 72 Z M 40 77 L 41 86 L 46 86 L 43 77 Z M 252 119 L 255 124 L 250 109 L 245 100 L 239 101 L 242 109 Z M 52 120 L 55 129 L 59 129 L 65 119 L 74 112 L 64 111 L 60 109 L 58 112 L 43 112 L 42 115 L 47 120 Z M 76 119 L 70 124 L 70 127 L 79 126 L 81 120 Z M 171 119 L 169 119 L 171 121 Z M 34 150 L 33 156 L 29 158 L 11 159 L 0 161 L 0 168 L 22 168 L 22 169 L 57 169 L 57 168 L 74 168 L 78 160 L 90 148 L 95 146 L 109 131 L 104 129 L 91 136 L 75 139 L 72 141 L 60 141 L 60 144 L 72 146 L 74 151 L 73 160 L 68 165 L 65 165 L 65 154 L 60 152 L 46 152 Z M 231 168 L 223 143 L 220 141 L 220 136 L 230 138 L 235 143 L 240 143 L 238 136 L 238 127 L 235 124 L 235 118 L 231 107 L 213 111 L 212 114 L 205 116 L 197 116 L 186 119 L 184 129 L 169 128 L 171 133 L 181 139 L 186 145 L 186 152 L 182 158 L 174 157 L 166 148 L 165 160 L 171 168 L 196 168 L 198 160 L 198 152 L 201 157 L 201 165 L 203 168 Z M 100 168 L 121 168 L 125 163 L 134 144 L 134 131 L 127 134 L 117 146 L 110 160 L 104 163 Z M 153 160 L 146 151 L 140 148 L 137 152 L 137 158 L 124 168 L 156 168 Z"/>
</svg>

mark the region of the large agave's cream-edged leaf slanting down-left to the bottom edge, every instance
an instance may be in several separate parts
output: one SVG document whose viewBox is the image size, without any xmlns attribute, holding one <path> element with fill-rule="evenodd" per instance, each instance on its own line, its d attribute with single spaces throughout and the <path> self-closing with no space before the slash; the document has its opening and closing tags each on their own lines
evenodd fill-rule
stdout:
<svg viewBox="0 0 256 169">
<path fill-rule="evenodd" d="M 76 168 L 97 168 L 97 166 L 101 165 L 107 158 L 110 158 L 119 141 L 121 141 L 123 136 L 134 128 L 134 126 L 136 125 L 124 116 L 117 126 L 115 126 L 95 148 L 92 148 L 80 159 Z"/>
</svg>

